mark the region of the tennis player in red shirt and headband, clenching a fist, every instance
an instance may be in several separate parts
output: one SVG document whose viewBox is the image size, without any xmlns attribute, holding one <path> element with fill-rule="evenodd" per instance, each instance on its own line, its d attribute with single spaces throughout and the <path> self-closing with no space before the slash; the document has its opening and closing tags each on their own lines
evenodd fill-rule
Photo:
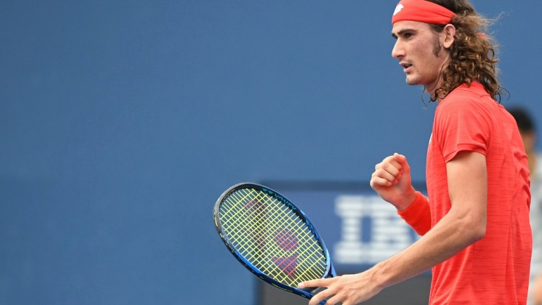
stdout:
<svg viewBox="0 0 542 305">
<path fill-rule="evenodd" d="M 365 272 L 301 283 L 327 287 L 309 304 L 359 304 L 428 269 L 429 304 L 525 304 L 528 162 L 517 124 L 498 102 L 497 59 L 481 34 L 488 21 L 468 0 L 402 0 L 392 24 L 392 56 L 407 83 L 437 102 L 429 198 L 412 187 L 407 158 L 397 153 L 376 165 L 371 187 L 422 237 Z"/>
</svg>

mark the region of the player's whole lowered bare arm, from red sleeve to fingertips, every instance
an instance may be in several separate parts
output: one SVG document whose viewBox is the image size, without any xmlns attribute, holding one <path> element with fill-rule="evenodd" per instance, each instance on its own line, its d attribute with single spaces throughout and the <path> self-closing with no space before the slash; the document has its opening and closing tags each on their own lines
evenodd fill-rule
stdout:
<svg viewBox="0 0 542 305">
<path fill-rule="evenodd" d="M 411 247 L 373 268 L 354 275 L 305 282 L 305 287 L 328 289 L 315 295 L 310 305 L 329 298 L 329 304 L 354 305 L 382 289 L 422 273 L 483 238 L 486 233 L 486 157 L 459 153 L 446 164 L 451 210 Z"/>
</svg>

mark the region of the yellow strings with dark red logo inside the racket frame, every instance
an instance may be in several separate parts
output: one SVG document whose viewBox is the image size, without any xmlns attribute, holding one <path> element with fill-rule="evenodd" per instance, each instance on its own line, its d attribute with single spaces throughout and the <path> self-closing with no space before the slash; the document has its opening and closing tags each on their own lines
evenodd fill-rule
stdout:
<svg viewBox="0 0 542 305">
<path fill-rule="evenodd" d="M 296 286 L 321 278 L 326 258 L 305 221 L 272 196 L 240 189 L 220 207 L 225 234 L 251 264 L 270 278 Z"/>
</svg>

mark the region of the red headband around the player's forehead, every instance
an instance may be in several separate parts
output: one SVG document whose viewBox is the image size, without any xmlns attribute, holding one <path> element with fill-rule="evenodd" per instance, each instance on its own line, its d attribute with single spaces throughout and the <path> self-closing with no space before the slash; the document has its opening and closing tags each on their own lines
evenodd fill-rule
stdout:
<svg viewBox="0 0 542 305">
<path fill-rule="evenodd" d="M 455 16 L 454 12 L 431 1 L 401 0 L 395 7 L 395 12 L 391 17 L 391 24 L 393 25 L 398 21 L 447 24 L 450 23 L 453 16 Z"/>
</svg>

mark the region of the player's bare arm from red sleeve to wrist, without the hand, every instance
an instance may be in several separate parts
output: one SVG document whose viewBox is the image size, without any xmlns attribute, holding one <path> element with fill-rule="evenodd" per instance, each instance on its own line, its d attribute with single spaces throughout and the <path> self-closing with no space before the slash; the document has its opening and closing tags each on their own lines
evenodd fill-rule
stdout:
<svg viewBox="0 0 542 305">
<path fill-rule="evenodd" d="M 446 163 L 451 209 L 411 247 L 377 264 L 376 280 L 387 287 L 444 262 L 486 234 L 486 157 L 462 152 Z"/>
</svg>

